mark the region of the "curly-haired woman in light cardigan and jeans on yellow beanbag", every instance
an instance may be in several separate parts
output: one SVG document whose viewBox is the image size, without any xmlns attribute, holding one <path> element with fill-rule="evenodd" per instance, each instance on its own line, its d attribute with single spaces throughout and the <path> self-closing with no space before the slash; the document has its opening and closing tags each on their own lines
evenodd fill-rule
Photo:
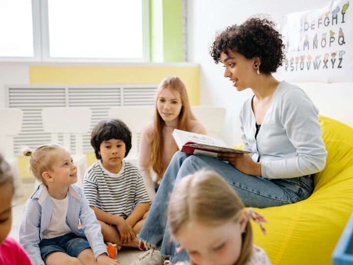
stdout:
<svg viewBox="0 0 353 265">
<path fill-rule="evenodd" d="M 215 62 L 225 67 L 224 77 L 238 91 L 253 92 L 240 111 L 244 149 L 252 154 L 219 154 L 214 159 L 177 152 L 138 235 L 153 248 L 134 264 L 162 265 L 167 257 L 172 264 L 189 260 L 170 240 L 165 212 L 175 183 L 202 168 L 222 176 L 246 207 L 296 203 L 312 193 L 311 176 L 325 167 L 327 157 L 319 111 L 301 88 L 272 76 L 284 59 L 281 35 L 274 26 L 267 19 L 250 18 L 227 27 L 210 48 Z"/>
</svg>

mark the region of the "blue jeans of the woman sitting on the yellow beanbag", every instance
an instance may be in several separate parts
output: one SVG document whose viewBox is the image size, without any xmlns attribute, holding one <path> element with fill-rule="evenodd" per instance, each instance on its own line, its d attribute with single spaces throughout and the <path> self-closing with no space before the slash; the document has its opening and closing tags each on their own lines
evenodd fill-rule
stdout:
<svg viewBox="0 0 353 265">
<path fill-rule="evenodd" d="M 295 203 L 308 198 L 313 190 L 313 180 L 310 177 L 267 180 L 246 175 L 232 165 L 211 157 L 176 152 L 138 235 L 138 238 L 160 247 L 160 254 L 169 256 L 173 264 L 189 260 L 189 256 L 185 250 L 176 252 L 179 244 L 171 240 L 167 222 L 169 195 L 182 177 L 200 169 L 213 170 L 220 174 L 237 192 L 246 207 L 266 208 Z"/>
</svg>

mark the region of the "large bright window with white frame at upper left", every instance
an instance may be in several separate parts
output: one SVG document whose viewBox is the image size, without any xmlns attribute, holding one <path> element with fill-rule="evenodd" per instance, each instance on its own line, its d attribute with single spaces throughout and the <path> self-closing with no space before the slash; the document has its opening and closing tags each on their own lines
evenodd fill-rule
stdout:
<svg viewBox="0 0 353 265">
<path fill-rule="evenodd" d="M 149 61 L 148 8 L 148 0 L 0 0 L 0 60 Z"/>
</svg>

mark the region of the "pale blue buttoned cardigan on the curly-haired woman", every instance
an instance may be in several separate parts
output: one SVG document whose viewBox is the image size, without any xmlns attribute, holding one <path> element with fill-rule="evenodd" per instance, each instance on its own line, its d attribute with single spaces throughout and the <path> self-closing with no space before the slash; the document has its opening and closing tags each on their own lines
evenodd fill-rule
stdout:
<svg viewBox="0 0 353 265">
<path fill-rule="evenodd" d="M 319 110 L 298 86 L 278 84 L 260 131 L 255 139 L 256 121 L 252 98 L 240 111 L 244 149 L 260 157 L 261 174 L 266 179 L 305 176 L 324 169 L 327 157 L 321 136 Z"/>
</svg>

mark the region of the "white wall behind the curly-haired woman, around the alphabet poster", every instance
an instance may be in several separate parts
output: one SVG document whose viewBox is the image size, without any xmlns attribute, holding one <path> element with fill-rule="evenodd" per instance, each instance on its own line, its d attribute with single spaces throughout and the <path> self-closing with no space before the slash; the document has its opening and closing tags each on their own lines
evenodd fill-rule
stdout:
<svg viewBox="0 0 353 265">
<path fill-rule="evenodd" d="M 250 16 L 259 13 L 269 14 L 278 24 L 282 24 L 285 14 L 320 7 L 325 2 L 322 0 L 188 1 L 188 60 L 201 65 L 201 105 L 224 106 L 227 109 L 226 130 L 223 138 L 229 145 L 241 140 L 239 109 L 252 92 L 250 89 L 237 92 L 231 86 L 230 81 L 223 77 L 224 68 L 221 65 L 216 65 L 208 54 L 216 32 L 233 24 L 241 24 Z M 281 80 L 279 75 L 275 75 L 275 77 Z M 324 107 L 325 111 L 321 112 L 322 114 L 353 126 L 353 119 L 349 117 L 353 114 L 352 105 L 345 106 L 340 110 L 343 102 L 352 102 L 352 84 L 347 86 L 346 83 L 346 86 L 338 86 L 334 90 L 332 86 L 325 86 L 325 91 L 320 89 L 321 86 L 318 84 L 310 88 L 310 91 L 307 91 L 305 87 L 303 89 L 313 102 L 319 108 Z M 337 93 L 337 91 L 339 92 Z M 342 116 L 340 113 L 343 113 Z"/>
</svg>

